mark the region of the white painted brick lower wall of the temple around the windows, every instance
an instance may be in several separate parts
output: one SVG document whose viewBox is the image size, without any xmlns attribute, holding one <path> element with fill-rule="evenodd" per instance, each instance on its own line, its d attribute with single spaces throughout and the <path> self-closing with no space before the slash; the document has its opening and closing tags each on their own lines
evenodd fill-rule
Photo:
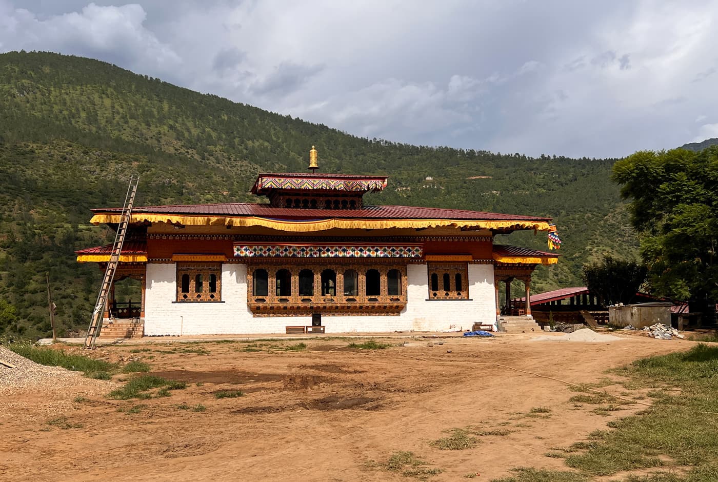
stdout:
<svg viewBox="0 0 718 482">
<path fill-rule="evenodd" d="M 309 316 L 253 318 L 247 307 L 247 268 L 223 264 L 222 301 L 175 302 L 175 264 L 148 264 L 145 335 L 284 333 L 288 325 L 311 325 Z M 327 333 L 404 330 L 470 330 L 473 323 L 494 323 L 493 265 L 469 265 L 468 300 L 427 301 L 426 264 L 406 268 L 407 305 L 399 316 L 324 316 Z"/>
</svg>

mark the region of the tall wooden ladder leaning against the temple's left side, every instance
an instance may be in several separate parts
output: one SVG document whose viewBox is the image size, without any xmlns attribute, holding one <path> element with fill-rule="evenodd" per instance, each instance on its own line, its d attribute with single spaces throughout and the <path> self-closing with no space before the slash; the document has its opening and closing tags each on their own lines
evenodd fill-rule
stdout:
<svg viewBox="0 0 718 482">
<path fill-rule="evenodd" d="M 122 253 L 122 245 L 125 242 L 125 235 L 127 233 L 127 226 L 130 222 L 130 215 L 132 213 L 132 204 L 134 203 L 135 193 L 137 192 L 137 183 L 139 177 L 130 177 L 130 185 L 127 188 L 127 194 L 125 195 L 125 203 L 122 208 L 122 215 L 120 222 L 117 226 L 117 232 L 115 233 L 115 242 L 112 244 L 112 254 L 110 254 L 110 260 L 107 263 L 105 269 L 105 276 L 102 280 L 102 287 L 100 293 L 97 295 L 97 302 L 95 302 L 95 310 L 92 313 L 92 319 L 90 320 L 90 328 L 88 328 L 88 334 L 85 336 L 85 350 L 91 350 L 95 348 L 95 342 L 97 337 L 100 335 L 102 328 L 102 319 L 105 313 L 105 306 L 107 305 L 107 295 L 112 287 L 113 279 L 115 279 L 115 272 L 117 271 L 117 265 L 120 262 L 120 254 Z"/>
</svg>

